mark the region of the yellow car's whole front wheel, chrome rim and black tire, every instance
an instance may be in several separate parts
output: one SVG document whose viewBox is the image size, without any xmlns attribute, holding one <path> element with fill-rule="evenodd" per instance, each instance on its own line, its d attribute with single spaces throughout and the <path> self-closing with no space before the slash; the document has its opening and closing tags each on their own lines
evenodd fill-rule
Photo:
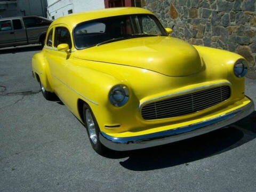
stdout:
<svg viewBox="0 0 256 192">
<path fill-rule="evenodd" d="M 99 140 L 99 125 L 95 119 L 95 116 L 93 115 L 91 108 L 86 103 L 83 105 L 83 119 L 92 148 L 96 151 L 96 153 L 105 155 L 108 149 L 103 146 Z"/>
</svg>

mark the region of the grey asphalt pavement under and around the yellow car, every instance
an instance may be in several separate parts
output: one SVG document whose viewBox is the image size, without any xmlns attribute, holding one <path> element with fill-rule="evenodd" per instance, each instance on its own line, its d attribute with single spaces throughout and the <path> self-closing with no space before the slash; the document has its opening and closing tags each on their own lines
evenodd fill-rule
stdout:
<svg viewBox="0 0 256 192">
<path fill-rule="evenodd" d="M 39 46 L 0 49 L 0 191 L 255 191 L 256 112 L 170 145 L 96 154 L 84 126 L 31 76 Z M 256 102 L 256 80 L 246 79 Z"/>
</svg>

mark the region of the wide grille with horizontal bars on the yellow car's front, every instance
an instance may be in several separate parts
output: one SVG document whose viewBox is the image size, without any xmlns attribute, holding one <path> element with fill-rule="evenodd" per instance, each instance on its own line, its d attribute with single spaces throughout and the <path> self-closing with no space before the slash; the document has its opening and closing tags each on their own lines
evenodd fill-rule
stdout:
<svg viewBox="0 0 256 192">
<path fill-rule="evenodd" d="M 230 87 L 219 86 L 149 103 L 142 107 L 141 115 L 146 120 L 176 117 L 212 107 L 228 98 Z"/>
</svg>

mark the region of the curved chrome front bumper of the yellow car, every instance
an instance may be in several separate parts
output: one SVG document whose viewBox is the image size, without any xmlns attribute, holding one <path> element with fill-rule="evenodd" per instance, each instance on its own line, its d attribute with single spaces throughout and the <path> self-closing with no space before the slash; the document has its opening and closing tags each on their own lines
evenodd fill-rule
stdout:
<svg viewBox="0 0 256 192">
<path fill-rule="evenodd" d="M 179 127 L 177 129 L 143 134 L 134 137 L 113 137 L 104 132 L 100 132 L 100 141 L 106 147 L 117 151 L 159 146 L 196 137 L 197 135 L 220 129 L 221 127 L 235 123 L 239 119 L 250 115 L 253 111 L 254 104 L 253 101 L 251 101 L 247 105 L 230 111 L 229 113 L 222 114 L 195 124 Z"/>
</svg>

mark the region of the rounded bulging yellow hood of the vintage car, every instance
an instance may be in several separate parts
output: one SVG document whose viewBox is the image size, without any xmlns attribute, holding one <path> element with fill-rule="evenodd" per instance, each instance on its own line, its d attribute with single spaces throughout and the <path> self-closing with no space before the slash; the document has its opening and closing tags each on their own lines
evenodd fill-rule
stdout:
<svg viewBox="0 0 256 192">
<path fill-rule="evenodd" d="M 186 76 L 202 69 L 197 50 L 173 37 L 140 37 L 76 52 L 76 58 L 139 67 L 167 76 Z"/>
</svg>

